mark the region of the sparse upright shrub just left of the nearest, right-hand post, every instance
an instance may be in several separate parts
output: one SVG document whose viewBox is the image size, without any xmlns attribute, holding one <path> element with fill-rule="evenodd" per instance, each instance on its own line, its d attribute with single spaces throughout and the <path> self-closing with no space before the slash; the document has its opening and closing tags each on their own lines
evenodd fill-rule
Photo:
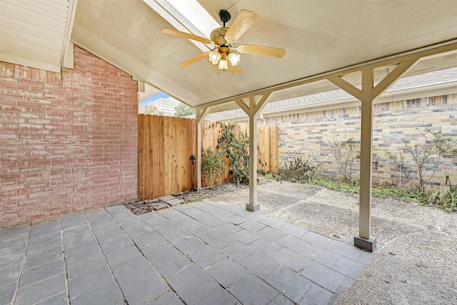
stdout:
<svg viewBox="0 0 457 305">
<path fill-rule="evenodd" d="M 322 141 L 321 145 L 331 151 L 333 158 L 338 164 L 338 172 L 340 179 L 343 181 L 351 181 L 351 173 L 348 171 L 349 165 L 353 159 L 360 156 L 360 143 L 354 138 L 345 136 L 343 139 L 338 139 L 338 135 L 333 136 L 332 141 Z"/>
</svg>

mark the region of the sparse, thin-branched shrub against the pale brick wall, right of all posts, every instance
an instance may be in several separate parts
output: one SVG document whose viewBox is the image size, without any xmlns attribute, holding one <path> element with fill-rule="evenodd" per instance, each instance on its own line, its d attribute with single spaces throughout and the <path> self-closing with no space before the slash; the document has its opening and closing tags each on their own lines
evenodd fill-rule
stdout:
<svg viewBox="0 0 457 305">
<path fill-rule="evenodd" d="M 446 154 L 457 154 L 457 141 L 443 136 L 441 131 L 421 131 L 422 141 L 412 145 L 403 140 L 398 153 L 386 151 L 388 159 L 403 171 L 412 189 L 424 193 Z"/>
</svg>

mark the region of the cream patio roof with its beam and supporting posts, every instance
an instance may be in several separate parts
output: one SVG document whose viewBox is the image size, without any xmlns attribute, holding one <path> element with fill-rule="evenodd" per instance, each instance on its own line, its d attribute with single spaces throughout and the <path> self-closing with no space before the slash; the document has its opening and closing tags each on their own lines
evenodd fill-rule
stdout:
<svg viewBox="0 0 457 305">
<path fill-rule="evenodd" d="M 70 37 L 72 43 L 134 79 L 196 108 L 197 124 L 211 111 L 240 107 L 248 114 L 251 127 L 251 196 L 246 205 L 251 210 L 258 209 L 254 183 L 256 116 L 269 101 L 340 87 L 362 105 L 360 239 L 356 244 L 373 250 L 373 99 L 402 76 L 457 66 L 457 6 L 453 1 L 198 2 L 216 20 L 220 9 L 229 9 L 232 16 L 241 9 L 254 11 L 259 19 L 239 42 L 280 47 L 286 49 L 286 56 L 273 59 L 243 54 L 243 74 L 238 76 L 229 72 L 218 74 L 216 67 L 205 60 L 181 67 L 180 62 L 206 49 L 186 39 L 161 34 L 163 28 L 194 29 L 169 0 L 79 0 L 77 5 L 76 0 L 62 0 L 59 4 L 64 4 L 64 8 L 59 7 L 59 23 L 54 21 L 56 8 L 44 5 L 46 1 L 36 3 L 45 6 L 38 9 L 46 14 L 31 14 L 36 13 L 36 6 L 24 6 L 13 17 L 9 11 L 17 11 L 14 1 L 0 0 L 0 60 L 33 66 L 46 61 L 51 54 L 51 64 L 65 66 Z M 71 35 L 46 45 L 46 56 L 40 60 L 28 60 L 30 48 L 43 46 L 49 26 Z M 34 36 L 28 29 L 34 29 Z M 15 44 L 11 37 L 23 43 Z M 36 67 L 43 69 L 42 65 Z M 199 134 L 196 139 L 200 150 Z M 201 174 L 199 170 L 197 173 Z"/>
</svg>

